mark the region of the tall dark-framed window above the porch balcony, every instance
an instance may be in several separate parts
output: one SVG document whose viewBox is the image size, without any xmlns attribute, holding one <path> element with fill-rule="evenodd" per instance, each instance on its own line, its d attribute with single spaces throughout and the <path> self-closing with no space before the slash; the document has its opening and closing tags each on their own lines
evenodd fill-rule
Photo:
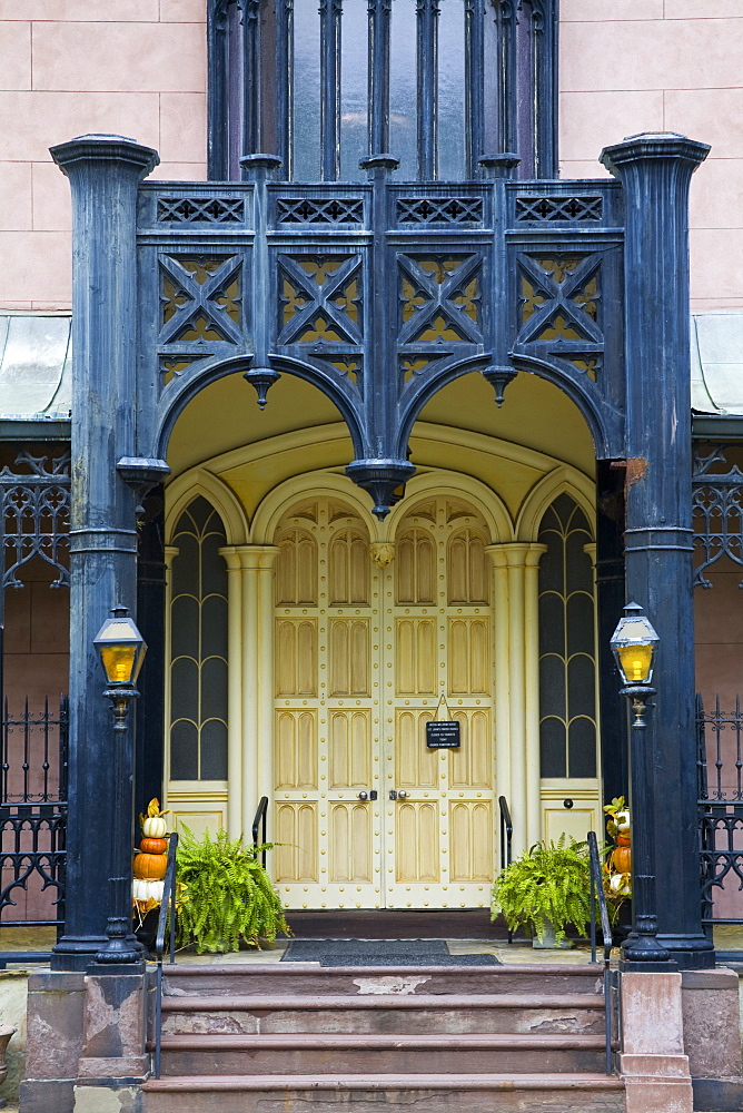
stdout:
<svg viewBox="0 0 743 1113">
<path fill-rule="evenodd" d="M 278 155 L 297 181 L 556 173 L 557 0 L 208 0 L 209 176 Z"/>
</svg>

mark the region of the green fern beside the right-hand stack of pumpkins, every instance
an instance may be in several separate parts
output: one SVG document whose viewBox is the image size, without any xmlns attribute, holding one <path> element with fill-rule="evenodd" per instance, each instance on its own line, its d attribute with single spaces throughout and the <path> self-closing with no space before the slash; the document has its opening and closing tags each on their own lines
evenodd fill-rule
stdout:
<svg viewBox="0 0 743 1113">
<path fill-rule="evenodd" d="M 491 919 L 503 914 L 508 929 L 524 927 L 535 947 L 563 947 L 565 928 L 584 933 L 591 919 L 587 843 L 535 843 L 507 866 L 493 886 Z"/>
</svg>

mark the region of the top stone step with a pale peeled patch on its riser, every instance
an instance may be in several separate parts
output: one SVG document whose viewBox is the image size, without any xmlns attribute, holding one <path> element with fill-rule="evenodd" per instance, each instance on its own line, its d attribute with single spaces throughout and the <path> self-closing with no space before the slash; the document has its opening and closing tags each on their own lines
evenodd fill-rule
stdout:
<svg viewBox="0 0 743 1113">
<path fill-rule="evenodd" d="M 335 966 L 274 963 L 245 966 L 166 966 L 168 996 L 236 996 L 267 994 L 273 998 L 297 996 L 385 993 L 426 994 L 545 994 L 602 991 L 603 967 L 597 963 L 579 966 Z"/>
</svg>

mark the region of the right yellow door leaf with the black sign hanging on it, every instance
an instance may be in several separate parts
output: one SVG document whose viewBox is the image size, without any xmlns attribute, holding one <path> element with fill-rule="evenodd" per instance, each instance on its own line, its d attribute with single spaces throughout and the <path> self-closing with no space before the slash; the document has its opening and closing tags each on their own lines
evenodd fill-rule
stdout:
<svg viewBox="0 0 743 1113">
<path fill-rule="evenodd" d="M 478 907 L 494 870 L 493 651 L 484 523 L 458 500 L 398 529 L 385 607 L 385 900 Z M 458 749 L 428 749 L 444 697 Z"/>
</svg>

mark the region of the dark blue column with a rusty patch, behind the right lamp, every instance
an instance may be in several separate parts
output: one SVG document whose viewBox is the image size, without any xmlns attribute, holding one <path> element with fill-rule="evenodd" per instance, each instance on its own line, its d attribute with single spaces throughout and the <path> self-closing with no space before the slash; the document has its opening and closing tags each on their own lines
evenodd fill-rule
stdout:
<svg viewBox="0 0 743 1113">
<path fill-rule="evenodd" d="M 682 968 L 714 965 L 696 840 L 687 218 L 691 176 L 709 150 L 661 134 L 602 155 L 626 206 L 626 591 L 661 639 L 644 740 L 652 802 L 633 823 L 650 825 L 658 942 Z"/>
</svg>

